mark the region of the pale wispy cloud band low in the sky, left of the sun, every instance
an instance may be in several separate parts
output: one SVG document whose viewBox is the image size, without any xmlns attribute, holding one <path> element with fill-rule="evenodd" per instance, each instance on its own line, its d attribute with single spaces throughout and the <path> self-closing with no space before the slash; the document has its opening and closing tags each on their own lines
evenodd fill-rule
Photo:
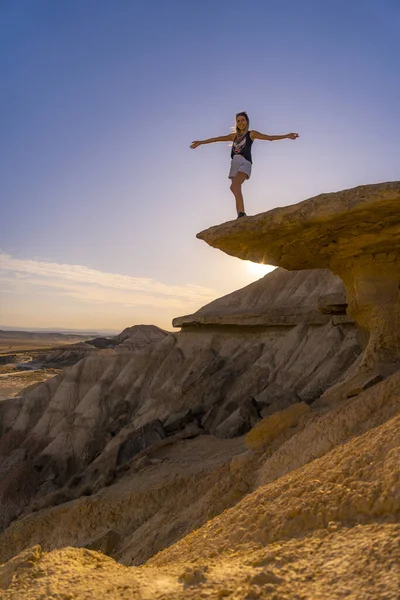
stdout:
<svg viewBox="0 0 400 600">
<path fill-rule="evenodd" d="M 147 277 L 131 277 L 84 265 L 21 260 L 0 252 L 0 281 L 9 287 L 40 286 L 80 302 L 177 307 L 202 305 L 219 294 L 197 285 L 168 285 Z M 25 288 L 26 289 L 26 288 Z"/>
</svg>

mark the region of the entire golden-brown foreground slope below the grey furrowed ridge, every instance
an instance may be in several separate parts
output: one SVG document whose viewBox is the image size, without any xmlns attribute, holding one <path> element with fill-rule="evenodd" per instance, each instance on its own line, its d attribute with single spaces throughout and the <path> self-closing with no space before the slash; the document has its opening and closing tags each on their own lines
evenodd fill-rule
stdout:
<svg viewBox="0 0 400 600">
<path fill-rule="evenodd" d="M 272 453 L 197 438 L 13 523 L 0 535 L 4 597 L 397 598 L 399 375 L 309 412 Z M 45 552 L 24 551 L 35 544 Z"/>
</svg>

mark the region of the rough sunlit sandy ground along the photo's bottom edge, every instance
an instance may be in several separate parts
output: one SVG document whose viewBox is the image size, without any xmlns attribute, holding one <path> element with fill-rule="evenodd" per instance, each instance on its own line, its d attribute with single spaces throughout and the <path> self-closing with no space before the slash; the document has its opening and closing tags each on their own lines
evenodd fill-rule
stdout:
<svg viewBox="0 0 400 600">
<path fill-rule="evenodd" d="M 249 546 L 207 562 L 124 567 L 104 554 L 65 548 L 25 551 L 0 571 L 7 600 L 395 600 L 400 526 L 357 525 L 267 548 Z"/>
</svg>

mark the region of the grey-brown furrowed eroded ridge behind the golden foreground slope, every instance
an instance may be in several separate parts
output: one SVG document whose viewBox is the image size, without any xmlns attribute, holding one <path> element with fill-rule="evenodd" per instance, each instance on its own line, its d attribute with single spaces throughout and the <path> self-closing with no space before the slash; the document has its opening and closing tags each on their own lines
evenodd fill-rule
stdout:
<svg viewBox="0 0 400 600">
<path fill-rule="evenodd" d="M 212 310 L 214 323 L 185 326 L 135 353 L 89 356 L 29 392 L 18 410 L 4 405 L 3 525 L 64 486 L 101 489 L 165 436 L 239 436 L 264 415 L 314 402 L 361 351 L 353 324 L 335 326 L 317 310 L 322 294 L 340 289 L 328 271 L 278 269 L 200 311 Z M 276 319 L 279 303 L 296 319 Z M 232 307 L 246 313 L 245 324 L 229 324 Z M 247 324 L 269 310 L 263 325 Z M 6 468 L 20 449 L 21 469 Z"/>
</svg>

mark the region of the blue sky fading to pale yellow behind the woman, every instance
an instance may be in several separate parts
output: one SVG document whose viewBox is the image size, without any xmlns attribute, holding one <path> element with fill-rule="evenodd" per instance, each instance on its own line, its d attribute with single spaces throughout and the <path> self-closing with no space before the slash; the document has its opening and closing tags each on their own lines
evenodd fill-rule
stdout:
<svg viewBox="0 0 400 600">
<path fill-rule="evenodd" d="M 260 276 L 195 234 L 235 218 L 229 147 L 251 127 L 248 214 L 398 179 L 398 0 L 0 2 L 0 325 L 115 329 Z"/>
</svg>

